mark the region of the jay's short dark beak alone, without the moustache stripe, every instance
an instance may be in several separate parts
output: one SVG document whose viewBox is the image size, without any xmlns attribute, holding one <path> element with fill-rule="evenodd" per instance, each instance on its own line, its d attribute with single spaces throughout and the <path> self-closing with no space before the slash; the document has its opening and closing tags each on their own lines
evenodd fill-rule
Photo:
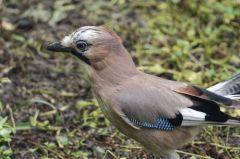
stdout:
<svg viewBox="0 0 240 159">
<path fill-rule="evenodd" d="M 49 51 L 54 51 L 54 52 L 72 52 L 73 51 L 72 48 L 63 46 L 61 42 L 48 43 L 45 45 L 45 48 Z"/>
</svg>

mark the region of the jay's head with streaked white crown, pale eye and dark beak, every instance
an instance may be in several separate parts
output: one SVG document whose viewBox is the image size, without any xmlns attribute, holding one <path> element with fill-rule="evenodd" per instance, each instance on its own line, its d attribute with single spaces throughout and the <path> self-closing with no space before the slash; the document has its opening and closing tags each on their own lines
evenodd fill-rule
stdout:
<svg viewBox="0 0 240 159">
<path fill-rule="evenodd" d="M 105 59 L 109 54 L 118 54 L 121 48 L 119 36 L 103 26 L 81 27 L 60 42 L 46 46 L 50 51 L 70 52 L 89 65 Z"/>
</svg>

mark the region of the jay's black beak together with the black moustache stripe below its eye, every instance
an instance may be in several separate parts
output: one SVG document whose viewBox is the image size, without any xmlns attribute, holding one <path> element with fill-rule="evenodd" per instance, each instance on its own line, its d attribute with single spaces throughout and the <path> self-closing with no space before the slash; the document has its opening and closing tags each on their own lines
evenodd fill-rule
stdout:
<svg viewBox="0 0 240 159">
<path fill-rule="evenodd" d="M 87 63 L 88 65 L 90 65 L 90 60 L 88 58 L 86 58 L 85 56 L 83 56 L 82 53 L 77 52 L 74 48 L 71 47 L 65 47 L 63 45 L 61 45 L 61 42 L 53 42 L 53 43 L 48 43 L 45 44 L 44 46 L 47 50 L 49 51 L 54 51 L 54 52 L 69 52 L 72 53 L 74 56 L 76 56 L 77 58 L 79 58 L 80 60 L 84 61 L 85 63 Z"/>
</svg>

